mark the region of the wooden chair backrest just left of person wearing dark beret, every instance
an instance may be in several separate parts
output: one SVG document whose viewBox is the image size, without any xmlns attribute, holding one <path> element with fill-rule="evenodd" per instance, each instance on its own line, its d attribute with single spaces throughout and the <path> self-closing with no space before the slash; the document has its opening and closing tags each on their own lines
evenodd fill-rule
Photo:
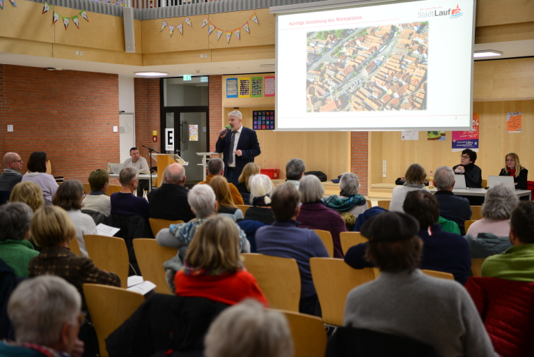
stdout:
<svg viewBox="0 0 534 357">
<path fill-rule="evenodd" d="M 358 285 L 375 280 L 375 273 L 372 268 L 353 269 L 342 259 L 333 258 L 311 258 L 310 266 L 322 321 L 342 326 L 347 294 Z"/>
</svg>

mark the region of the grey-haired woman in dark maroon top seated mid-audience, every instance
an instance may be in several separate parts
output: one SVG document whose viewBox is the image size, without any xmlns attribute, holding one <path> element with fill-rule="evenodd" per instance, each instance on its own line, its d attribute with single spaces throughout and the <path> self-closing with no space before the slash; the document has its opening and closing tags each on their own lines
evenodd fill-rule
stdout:
<svg viewBox="0 0 534 357">
<path fill-rule="evenodd" d="M 314 175 L 304 176 L 300 180 L 299 191 L 302 202 L 297 216 L 297 221 L 300 222 L 299 227 L 329 231 L 333 241 L 333 257 L 343 258 L 339 234 L 347 231 L 347 227 L 339 213 L 327 208 L 322 202 L 324 187 L 321 181 Z"/>
</svg>

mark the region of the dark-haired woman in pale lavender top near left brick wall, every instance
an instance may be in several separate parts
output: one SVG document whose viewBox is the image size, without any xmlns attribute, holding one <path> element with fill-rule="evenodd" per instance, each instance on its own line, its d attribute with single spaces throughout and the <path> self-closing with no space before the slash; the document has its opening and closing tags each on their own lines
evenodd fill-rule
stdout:
<svg viewBox="0 0 534 357">
<path fill-rule="evenodd" d="M 47 153 L 42 151 L 33 151 L 28 159 L 28 172 L 22 176 L 21 182 L 33 182 L 37 183 L 39 188 L 45 195 L 45 205 L 52 205 L 52 197 L 58 189 L 58 184 L 54 179 L 54 176 L 47 174 Z"/>
</svg>

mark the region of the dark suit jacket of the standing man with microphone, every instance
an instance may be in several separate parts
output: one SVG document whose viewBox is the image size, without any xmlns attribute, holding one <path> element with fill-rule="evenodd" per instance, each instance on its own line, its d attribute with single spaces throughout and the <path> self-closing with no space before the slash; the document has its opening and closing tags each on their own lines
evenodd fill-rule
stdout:
<svg viewBox="0 0 534 357">
<path fill-rule="evenodd" d="M 223 162 L 225 177 L 228 177 L 228 158 L 232 154 L 232 148 L 230 148 L 231 139 L 231 132 L 228 132 L 224 139 L 219 137 L 217 144 L 215 144 L 217 152 L 224 154 Z M 238 174 L 241 174 L 243 167 L 249 162 L 254 162 L 254 158 L 261 153 L 260 143 L 258 142 L 256 132 L 252 129 L 243 127 L 243 130 L 241 130 L 241 134 L 239 135 L 239 142 L 237 142 L 236 150 L 241 150 L 243 153 L 241 156 L 235 155 L 235 169 L 237 169 Z"/>
</svg>

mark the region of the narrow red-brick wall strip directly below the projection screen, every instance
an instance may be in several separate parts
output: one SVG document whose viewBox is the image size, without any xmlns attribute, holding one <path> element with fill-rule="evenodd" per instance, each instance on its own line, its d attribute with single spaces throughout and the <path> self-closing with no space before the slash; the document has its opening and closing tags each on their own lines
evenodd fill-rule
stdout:
<svg viewBox="0 0 534 357">
<path fill-rule="evenodd" d="M 351 132 L 350 171 L 354 172 L 360 181 L 359 193 L 368 192 L 369 165 L 369 136 L 366 131 Z"/>
</svg>

